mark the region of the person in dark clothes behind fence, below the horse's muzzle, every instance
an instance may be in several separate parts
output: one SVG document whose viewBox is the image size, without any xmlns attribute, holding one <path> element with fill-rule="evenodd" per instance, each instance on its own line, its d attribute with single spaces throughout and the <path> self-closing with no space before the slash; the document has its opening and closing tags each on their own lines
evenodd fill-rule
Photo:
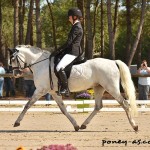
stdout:
<svg viewBox="0 0 150 150">
<path fill-rule="evenodd" d="M 6 71 L 6 73 L 12 73 L 11 66 L 9 66 L 9 68 L 5 68 L 5 71 Z M 4 79 L 4 87 L 5 87 L 5 91 L 6 91 L 6 94 L 5 94 L 6 97 L 15 96 L 16 95 L 14 84 L 13 84 L 13 78 L 5 77 L 5 79 Z"/>
</svg>

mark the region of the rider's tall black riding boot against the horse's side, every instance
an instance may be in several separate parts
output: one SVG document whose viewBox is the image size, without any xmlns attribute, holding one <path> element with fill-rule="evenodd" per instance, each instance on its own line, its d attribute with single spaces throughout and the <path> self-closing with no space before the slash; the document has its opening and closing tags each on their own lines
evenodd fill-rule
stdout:
<svg viewBox="0 0 150 150">
<path fill-rule="evenodd" d="M 60 69 L 59 72 L 58 72 L 58 75 L 59 75 L 59 79 L 60 79 L 60 84 L 61 84 L 61 88 L 58 92 L 58 94 L 61 94 L 61 95 L 65 95 L 66 97 L 69 97 L 70 96 L 70 91 L 69 91 L 69 88 L 68 88 L 68 80 L 67 80 L 67 76 L 66 76 L 66 73 L 63 69 Z"/>
</svg>

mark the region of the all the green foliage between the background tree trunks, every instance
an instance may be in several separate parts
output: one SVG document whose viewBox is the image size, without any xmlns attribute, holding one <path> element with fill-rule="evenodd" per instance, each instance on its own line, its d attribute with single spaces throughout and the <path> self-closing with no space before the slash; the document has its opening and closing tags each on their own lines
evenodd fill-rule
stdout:
<svg viewBox="0 0 150 150">
<path fill-rule="evenodd" d="M 49 0 L 50 2 L 50 0 Z M 2 41 L 5 45 L 13 47 L 13 30 L 14 30 L 14 8 L 12 1 L 1 0 L 2 4 Z M 94 19 L 94 5 L 95 1 L 92 1 L 91 4 L 91 17 L 92 17 L 92 29 L 93 29 L 93 19 Z M 54 0 L 52 3 L 52 11 L 55 22 L 56 29 L 56 42 L 58 47 L 62 45 L 68 36 L 71 26 L 68 22 L 67 12 L 71 7 L 76 7 L 77 2 L 73 0 Z M 85 5 L 86 6 L 86 5 Z M 115 1 L 112 1 L 112 18 L 114 16 L 114 6 Z M 28 11 L 29 11 L 29 1 L 26 1 L 26 14 L 24 18 L 24 37 L 27 30 L 27 21 L 28 21 Z M 35 14 L 35 12 L 34 12 Z M 134 42 L 135 36 L 137 34 L 138 25 L 140 21 L 141 14 L 141 1 L 133 0 L 131 1 L 131 26 L 132 26 L 132 43 Z M 126 50 L 126 8 L 125 1 L 121 1 L 119 8 L 119 18 L 118 18 L 118 27 L 116 33 L 116 59 L 124 60 L 125 50 Z M 100 31 L 101 31 L 101 9 L 98 8 L 96 15 L 96 34 L 95 34 L 95 52 L 99 52 L 100 45 Z M 33 16 L 34 20 L 34 44 L 36 43 L 36 26 L 35 26 L 35 15 Z M 42 47 L 53 47 L 53 31 L 52 31 L 52 22 L 50 17 L 49 8 L 46 1 L 41 0 L 41 25 L 42 25 Z M 145 15 L 145 22 L 142 32 L 142 58 L 148 58 L 150 53 L 149 51 L 149 41 L 150 41 L 150 5 L 147 4 L 147 10 Z M 104 1 L 104 41 L 105 41 L 105 50 L 104 57 L 109 58 L 109 41 L 108 41 L 108 25 L 107 25 L 107 5 Z M 133 62 L 136 62 L 134 58 Z"/>
</svg>

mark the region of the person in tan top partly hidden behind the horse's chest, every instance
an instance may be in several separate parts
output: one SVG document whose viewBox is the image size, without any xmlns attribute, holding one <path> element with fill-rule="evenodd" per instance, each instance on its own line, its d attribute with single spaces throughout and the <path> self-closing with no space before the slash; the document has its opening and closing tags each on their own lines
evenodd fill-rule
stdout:
<svg viewBox="0 0 150 150">
<path fill-rule="evenodd" d="M 25 75 L 24 77 L 25 97 L 30 99 L 35 91 L 33 75 L 29 68 L 24 69 L 23 73 Z"/>
</svg>

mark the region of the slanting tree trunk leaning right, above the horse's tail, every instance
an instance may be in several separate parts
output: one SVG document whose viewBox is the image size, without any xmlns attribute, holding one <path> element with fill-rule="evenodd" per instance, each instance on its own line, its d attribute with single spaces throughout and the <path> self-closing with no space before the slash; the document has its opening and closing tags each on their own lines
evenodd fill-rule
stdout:
<svg viewBox="0 0 150 150">
<path fill-rule="evenodd" d="M 138 46 L 138 42 L 140 40 L 140 36 L 141 36 L 143 24 L 144 24 L 145 8 L 146 8 L 146 0 L 142 0 L 140 24 L 139 24 L 139 27 L 138 27 L 138 32 L 137 32 L 135 41 L 133 43 L 133 47 L 131 49 L 131 55 L 130 55 L 130 58 L 129 58 L 129 61 L 128 61 L 128 66 L 130 66 L 131 63 L 132 63 L 133 57 L 135 55 L 135 52 L 136 52 L 136 49 L 137 49 L 137 46 Z"/>
</svg>

